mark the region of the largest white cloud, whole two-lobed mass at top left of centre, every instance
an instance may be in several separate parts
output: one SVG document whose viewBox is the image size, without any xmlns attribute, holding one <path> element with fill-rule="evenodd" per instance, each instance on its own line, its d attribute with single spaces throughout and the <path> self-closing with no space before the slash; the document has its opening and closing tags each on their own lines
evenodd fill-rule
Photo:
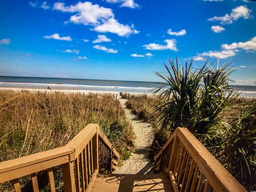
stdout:
<svg viewBox="0 0 256 192">
<path fill-rule="evenodd" d="M 139 33 L 138 30 L 134 29 L 133 25 L 129 26 L 119 23 L 111 9 L 99 6 L 98 4 L 92 4 L 91 2 L 78 2 L 70 6 L 57 2 L 54 3 L 53 10 L 73 13 L 69 18 L 69 22 L 92 25 L 94 28 L 91 30 L 99 33 L 109 32 L 123 37 Z"/>
</svg>

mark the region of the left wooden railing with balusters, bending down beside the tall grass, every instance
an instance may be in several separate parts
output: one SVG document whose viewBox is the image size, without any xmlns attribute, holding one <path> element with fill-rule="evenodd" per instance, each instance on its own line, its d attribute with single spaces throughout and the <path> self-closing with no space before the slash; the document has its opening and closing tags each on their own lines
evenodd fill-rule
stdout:
<svg viewBox="0 0 256 192">
<path fill-rule="evenodd" d="M 30 175 L 33 190 L 38 191 L 36 173 L 47 170 L 51 191 L 55 191 L 52 168 L 61 165 L 65 191 L 85 191 L 93 175 L 111 172 L 118 160 L 119 154 L 99 125 L 88 124 L 64 147 L 1 162 L 0 183 L 12 180 L 15 191 L 20 191 L 18 179 Z"/>
</svg>

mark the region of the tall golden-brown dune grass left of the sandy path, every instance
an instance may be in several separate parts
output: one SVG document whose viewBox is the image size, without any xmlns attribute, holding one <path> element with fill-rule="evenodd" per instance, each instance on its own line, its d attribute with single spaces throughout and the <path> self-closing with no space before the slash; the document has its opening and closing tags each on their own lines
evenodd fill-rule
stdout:
<svg viewBox="0 0 256 192">
<path fill-rule="evenodd" d="M 89 123 L 100 125 L 121 159 L 129 157 L 133 132 L 113 95 L 1 91 L 0 162 L 64 146 Z"/>
</svg>

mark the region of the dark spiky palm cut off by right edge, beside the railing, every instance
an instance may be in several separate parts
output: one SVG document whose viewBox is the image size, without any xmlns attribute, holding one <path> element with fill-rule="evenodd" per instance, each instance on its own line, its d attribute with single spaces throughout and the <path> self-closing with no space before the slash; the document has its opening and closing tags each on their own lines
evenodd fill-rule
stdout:
<svg viewBox="0 0 256 192">
<path fill-rule="evenodd" d="M 227 126 L 223 163 L 248 189 L 256 188 L 256 102 L 241 108 L 238 117 Z"/>
</svg>

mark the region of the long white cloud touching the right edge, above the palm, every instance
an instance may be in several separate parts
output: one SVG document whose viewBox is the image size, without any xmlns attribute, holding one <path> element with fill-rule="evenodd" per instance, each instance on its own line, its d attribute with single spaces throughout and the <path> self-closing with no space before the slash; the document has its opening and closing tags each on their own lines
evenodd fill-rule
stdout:
<svg viewBox="0 0 256 192">
<path fill-rule="evenodd" d="M 238 48 L 244 50 L 256 50 L 256 36 L 251 38 L 251 40 L 247 42 L 231 43 L 230 45 L 224 44 L 221 47 L 226 50 L 234 50 Z"/>
</svg>

